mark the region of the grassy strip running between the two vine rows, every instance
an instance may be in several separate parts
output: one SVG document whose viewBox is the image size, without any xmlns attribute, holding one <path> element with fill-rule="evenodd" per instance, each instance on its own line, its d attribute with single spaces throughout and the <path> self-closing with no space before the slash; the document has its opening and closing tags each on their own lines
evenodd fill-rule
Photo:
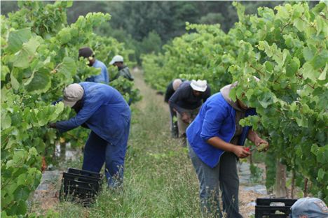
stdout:
<svg viewBox="0 0 328 218">
<path fill-rule="evenodd" d="M 170 138 L 168 106 L 138 87 L 144 99 L 132 110 L 123 189 L 105 188 L 90 208 L 60 203 L 56 217 L 201 217 L 196 174 L 186 147 Z"/>
</svg>

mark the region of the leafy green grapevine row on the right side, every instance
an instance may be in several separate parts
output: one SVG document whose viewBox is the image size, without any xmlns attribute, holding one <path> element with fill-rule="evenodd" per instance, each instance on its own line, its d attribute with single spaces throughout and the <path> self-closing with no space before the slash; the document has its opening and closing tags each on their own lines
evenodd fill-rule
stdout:
<svg viewBox="0 0 328 218">
<path fill-rule="evenodd" d="M 328 201 L 327 4 L 310 9 L 307 3 L 286 3 L 274 10 L 258 8 L 257 15 L 233 5 L 239 22 L 228 34 L 219 25 L 187 23 L 192 33 L 165 45 L 163 54 L 145 55 L 146 81 L 163 91 L 174 78 L 201 78 L 214 92 L 238 81 L 231 98 L 257 109 L 257 116 L 240 124 L 268 138 L 266 163 L 280 159 L 312 183 L 312 194 Z"/>
</svg>

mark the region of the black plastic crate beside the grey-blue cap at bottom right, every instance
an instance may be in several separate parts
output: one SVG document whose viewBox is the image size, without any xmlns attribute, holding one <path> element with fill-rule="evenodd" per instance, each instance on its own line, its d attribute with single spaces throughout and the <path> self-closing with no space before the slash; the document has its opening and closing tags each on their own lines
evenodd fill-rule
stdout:
<svg viewBox="0 0 328 218">
<path fill-rule="evenodd" d="M 255 218 L 286 218 L 291 213 L 290 208 L 297 199 L 257 198 Z"/>
</svg>

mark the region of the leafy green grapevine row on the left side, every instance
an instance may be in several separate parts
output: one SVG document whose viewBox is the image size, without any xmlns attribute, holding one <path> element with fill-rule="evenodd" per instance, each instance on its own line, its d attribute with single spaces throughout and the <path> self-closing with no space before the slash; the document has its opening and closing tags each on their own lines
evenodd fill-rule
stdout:
<svg viewBox="0 0 328 218">
<path fill-rule="evenodd" d="M 26 215 L 27 198 L 41 180 L 41 157 L 51 161 L 60 139 L 47 124 L 73 115 L 62 103 L 51 103 L 65 86 L 99 74 L 78 59 L 78 49 L 97 48 L 93 28 L 110 19 L 109 14 L 88 13 L 69 25 L 71 1 L 18 5 L 18 12 L 1 15 L 1 217 Z M 126 57 L 132 52 L 109 41 L 114 39 L 102 40 L 108 50 L 120 50 Z M 87 136 L 86 129 L 74 131 L 76 138 Z"/>
</svg>

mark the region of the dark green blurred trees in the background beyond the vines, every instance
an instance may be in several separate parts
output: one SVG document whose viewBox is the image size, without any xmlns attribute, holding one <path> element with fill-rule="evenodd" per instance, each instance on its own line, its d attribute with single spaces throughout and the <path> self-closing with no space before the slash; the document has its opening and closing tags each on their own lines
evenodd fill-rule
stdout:
<svg viewBox="0 0 328 218">
<path fill-rule="evenodd" d="M 310 1 L 310 7 L 317 2 Z M 284 1 L 242 1 L 246 14 L 257 13 L 261 6 L 274 8 L 282 3 Z M 18 10 L 17 1 L 1 1 L 1 14 L 15 10 Z M 186 22 L 219 23 L 226 33 L 238 22 L 232 1 L 74 1 L 73 7 L 67 10 L 67 22 L 76 22 L 78 16 L 89 12 L 111 15 L 110 24 L 97 27 L 97 34 L 112 36 L 135 50 L 130 58 L 138 64 L 140 54 L 158 52 L 163 44 L 185 34 Z"/>
</svg>

